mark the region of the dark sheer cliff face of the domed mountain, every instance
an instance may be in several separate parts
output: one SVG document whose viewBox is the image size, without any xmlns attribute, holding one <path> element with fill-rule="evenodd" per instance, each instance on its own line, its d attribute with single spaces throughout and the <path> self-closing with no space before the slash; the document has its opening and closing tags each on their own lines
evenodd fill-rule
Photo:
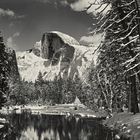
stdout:
<svg viewBox="0 0 140 140">
<path fill-rule="evenodd" d="M 52 66 L 59 65 L 60 72 L 65 71 L 65 75 L 67 75 L 75 49 L 70 44 L 71 40 L 66 40 L 64 36 L 63 34 L 61 37 L 59 33 L 45 33 L 42 37 L 41 56 L 44 59 L 49 59 Z M 72 38 L 72 40 L 74 39 Z"/>
</svg>

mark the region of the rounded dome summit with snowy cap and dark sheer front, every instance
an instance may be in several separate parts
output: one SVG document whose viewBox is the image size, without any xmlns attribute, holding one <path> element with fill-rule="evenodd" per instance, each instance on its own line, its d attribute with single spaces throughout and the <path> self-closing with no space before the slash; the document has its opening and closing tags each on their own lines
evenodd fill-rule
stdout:
<svg viewBox="0 0 140 140">
<path fill-rule="evenodd" d="M 71 45 L 79 45 L 79 43 L 74 38 L 60 32 L 45 33 L 42 37 L 42 58 L 59 59 L 62 53 L 67 58 L 73 58 L 74 48 Z"/>
</svg>

